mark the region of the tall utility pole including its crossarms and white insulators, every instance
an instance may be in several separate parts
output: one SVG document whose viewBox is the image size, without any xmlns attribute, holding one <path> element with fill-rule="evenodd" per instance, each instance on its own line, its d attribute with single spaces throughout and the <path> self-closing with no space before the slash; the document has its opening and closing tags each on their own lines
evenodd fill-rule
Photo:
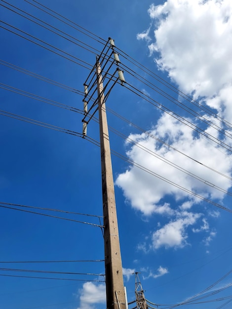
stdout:
<svg viewBox="0 0 232 309">
<path fill-rule="evenodd" d="M 119 62 L 118 54 L 115 52 L 115 42 L 109 38 L 84 82 L 85 96 L 83 103 L 85 115 L 82 119 L 83 137 L 87 138 L 87 124 L 97 111 L 99 113 L 107 309 L 126 309 L 127 305 L 122 276 L 115 189 L 105 105 L 106 99 L 116 82 L 125 82 L 123 72 L 118 67 Z M 116 67 L 116 70 L 114 70 L 114 67 Z M 116 72 L 118 77 L 116 77 Z M 106 82 L 105 86 L 103 86 L 103 82 Z M 105 94 L 107 89 L 109 90 Z M 94 100 L 96 92 L 97 98 Z M 91 107 L 88 111 L 90 103 Z"/>
</svg>

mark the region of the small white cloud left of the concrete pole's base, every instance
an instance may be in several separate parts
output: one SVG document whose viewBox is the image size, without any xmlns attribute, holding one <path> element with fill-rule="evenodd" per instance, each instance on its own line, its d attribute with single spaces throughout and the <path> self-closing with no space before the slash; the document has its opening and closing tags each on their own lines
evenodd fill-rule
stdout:
<svg viewBox="0 0 232 309">
<path fill-rule="evenodd" d="M 86 282 L 83 288 L 78 291 L 80 306 L 77 309 L 94 309 L 95 304 L 106 303 L 106 286 L 105 284 L 94 284 Z"/>
</svg>

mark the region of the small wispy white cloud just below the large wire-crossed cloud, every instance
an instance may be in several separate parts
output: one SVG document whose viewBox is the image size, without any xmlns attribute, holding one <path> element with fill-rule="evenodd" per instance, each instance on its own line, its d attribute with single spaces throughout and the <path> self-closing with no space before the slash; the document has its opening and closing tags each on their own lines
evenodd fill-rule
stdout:
<svg viewBox="0 0 232 309">
<path fill-rule="evenodd" d="M 180 218 L 170 221 L 161 229 L 155 231 L 152 235 L 154 249 L 162 246 L 165 248 L 184 247 L 188 238 L 186 229 L 195 224 L 199 217 L 200 214 L 183 212 Z"/>
</svg>

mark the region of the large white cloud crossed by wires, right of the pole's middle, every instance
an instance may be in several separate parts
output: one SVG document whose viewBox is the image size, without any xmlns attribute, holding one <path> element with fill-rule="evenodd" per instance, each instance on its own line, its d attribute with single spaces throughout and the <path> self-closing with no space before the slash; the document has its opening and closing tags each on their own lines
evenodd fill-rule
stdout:
<svg viewBox="0 0 232 309">
<path fill-rule="evenodd" d="M 140 147 L 133 145 L 127 151 L 127 156 L 132 161 L 193 193 L 210 199 L 223 199 L 225 193 L 216 190 L 215 186 L 228 190 L 232 186 L 232 181 L 216 174 L 212 169 L 230 176 L 232 160 L 229 154 L 225 156 L 219 146 L 215 146 L 213 143 L 209 144 L 202 135 L 195 136 L 189 127 L 168 114 L 163 114 L 155 128 L 149 133 L 149 135 L 142 133 L 129 136 L 128 141 L 131 139 L 140 145 Z M 153 136 L 168 143 L 172 148 L 168 148 L 164 144 L 160 145 Z M 128 142 L 127 145 L 129 145 Z M 178 149 L 178 152 L 174 149 Z M 167 164 L 167 160 L 197 177 L 191 177 L 185 171 L 173 167 L 173 164 L 172 166 Z M 210 166 L 212 169 L 208 169 L 196 161 Z M 187 198 L 187 200 L 183 200 L 182 209 L 189 209 L 194 203 L 200 201 L 194 196 L 190 197 L 189 193 L 180 188 L 161 180 L 159 176 L 154 177 L 151 173 L 136 166 L 131 166 L 124 173 L 118 175 L 116 185 L 123 190 L 124 196 L 131 206 L 145 215 L 156 213 L 173 216 L 175 212 L 171 205 L 161 202 L 168 195 L 174 196 L 177 201 Z"/>
</svg>

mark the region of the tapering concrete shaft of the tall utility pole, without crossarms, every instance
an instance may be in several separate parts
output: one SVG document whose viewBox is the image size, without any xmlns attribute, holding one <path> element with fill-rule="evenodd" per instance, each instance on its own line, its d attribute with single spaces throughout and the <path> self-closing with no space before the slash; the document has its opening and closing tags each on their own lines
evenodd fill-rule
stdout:
<svg viewBox="0 0 232 309">
<path fill-rule="evenodd" d="M 96 64 L 100 125 L 107 309 L 126 309 L 110 140 L 99 61 Z"/>
</svg>

